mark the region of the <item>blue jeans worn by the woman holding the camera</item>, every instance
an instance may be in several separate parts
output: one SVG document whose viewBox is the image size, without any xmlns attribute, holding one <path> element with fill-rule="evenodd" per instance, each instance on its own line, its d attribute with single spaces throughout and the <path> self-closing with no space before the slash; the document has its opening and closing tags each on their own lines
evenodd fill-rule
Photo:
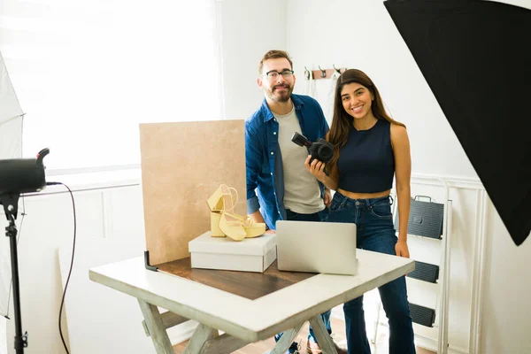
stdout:
<svg viewBox="0 0 531 354">
<path fill-rule="evenodd" d="M 350 199 L 335 192 L 328 222 L 353 222 L 357 227 L 357 248 L 396 256 L 397 241 L 392 199 Z M 389 354 L 415 353 L 412 318 L 407 301 L 405 277 L 382 285 L 379 289 L 383 309 L 389 319 Z M 370 354 L 366 335 L 363 296 L 343 305 L 349 354 Z"/>
</svg>

